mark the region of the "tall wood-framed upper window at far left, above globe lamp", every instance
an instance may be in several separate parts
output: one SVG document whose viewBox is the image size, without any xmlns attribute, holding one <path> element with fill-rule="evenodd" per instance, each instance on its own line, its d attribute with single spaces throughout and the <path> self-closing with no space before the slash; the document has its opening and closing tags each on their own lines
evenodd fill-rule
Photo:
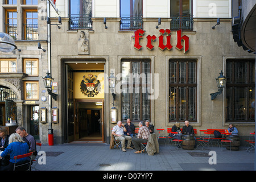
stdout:
<svg viewBox="0 0 256 182">
<path fill-rule="evenodd" d="M 17 39 L 17 10 L 6 10 L 6 33 L 9 34 L 14 40 Z"/>
</svg>

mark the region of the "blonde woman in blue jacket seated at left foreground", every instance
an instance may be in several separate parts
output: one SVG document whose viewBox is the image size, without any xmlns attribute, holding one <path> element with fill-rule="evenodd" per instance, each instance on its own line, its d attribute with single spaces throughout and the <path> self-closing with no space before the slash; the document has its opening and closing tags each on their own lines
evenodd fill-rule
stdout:
<svg viewBox="0 0 256 182">
<path fill-rule="evenodd" d="M 1 166 L 0 171 L 12 171 L 15 163 L 14 156 L 27 154 L 28 152 L 28 145 L 26 142 L 22 140 L 20 135 L 16 133 L 11 134 L 9 137 L 9 146 L 5 148 L 5 150 L 2 152 L 0 156 L 0 158 L 4 158 L 8 154 L 10 154 L 10 163 L 8 166 Z M 16 162 L 19 164 L 23 164 L 29 160 L 29 158 L 21 158 L 16 159 Z"/>
</svg>

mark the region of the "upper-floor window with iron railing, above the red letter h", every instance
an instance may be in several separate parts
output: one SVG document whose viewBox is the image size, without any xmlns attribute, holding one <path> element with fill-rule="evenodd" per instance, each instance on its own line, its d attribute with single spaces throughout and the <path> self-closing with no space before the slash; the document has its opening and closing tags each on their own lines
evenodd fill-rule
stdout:
<svg viewBox="0 0 256 182">
<path fill-rule="evenodd" d="M 192 30 L 192 0 L 170 0 L 171 29 Z"/>
</svg>

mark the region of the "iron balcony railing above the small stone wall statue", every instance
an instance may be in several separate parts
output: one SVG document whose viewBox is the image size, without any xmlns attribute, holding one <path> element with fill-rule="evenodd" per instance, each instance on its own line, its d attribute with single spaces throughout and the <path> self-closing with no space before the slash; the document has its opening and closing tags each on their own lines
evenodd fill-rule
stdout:
<svg viewBox="0 0 256 182">
<path fill-rule="evenodd" d="M 91 15 L 69 15 L 69 28 L 73 29 L 92 29 Z"/>
</svg>

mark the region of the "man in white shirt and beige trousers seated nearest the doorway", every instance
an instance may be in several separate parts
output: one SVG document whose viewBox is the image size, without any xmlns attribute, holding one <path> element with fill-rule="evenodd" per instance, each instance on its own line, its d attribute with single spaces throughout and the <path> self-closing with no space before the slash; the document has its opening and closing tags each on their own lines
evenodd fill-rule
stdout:
<svg viewBox="0 0 256 182">
<path fill-rule="evenodd" d="M 125 140 L 127 140 L 127 149 L 133 149 L 131 148 L 131 137 L 126 136 L 123 131 L 127 131 L 126 128 L 122 125 L 122 121 L 117 122 L 117 126 L 113 127 L 112 135 L 114 135 L 115 140 L 121 141 L 122 144 L 122 151 L 126 152 L 125 150 Z"/>
</svg>

